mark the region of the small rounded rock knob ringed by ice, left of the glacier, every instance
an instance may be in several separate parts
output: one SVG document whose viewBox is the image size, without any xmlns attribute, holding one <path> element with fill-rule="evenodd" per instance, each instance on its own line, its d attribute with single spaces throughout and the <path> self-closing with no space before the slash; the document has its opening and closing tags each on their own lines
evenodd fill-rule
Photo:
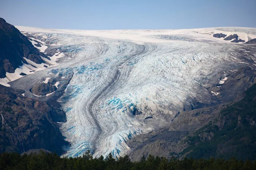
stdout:
<svg viewBox="0 0 256 170">
<path fill-rule="evenodd" d="M 48 83 L 39 83 L 34 85 L 33 88 L 31 89 L 31 92 L 38 96 L 45 96 L 56 90 L 57 88 L 48 82 Z"/>
</svg>

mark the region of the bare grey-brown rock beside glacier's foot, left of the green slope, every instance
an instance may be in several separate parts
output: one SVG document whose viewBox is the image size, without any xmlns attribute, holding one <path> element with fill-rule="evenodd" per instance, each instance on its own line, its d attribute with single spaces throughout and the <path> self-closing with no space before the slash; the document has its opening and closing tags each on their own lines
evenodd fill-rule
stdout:
<svg viewBox="0 0 256 170">
<path fill-rule="evenodd" d="M 149 154 L 169 159 L 172 156 L 178 156 L 178 153 L 189 146 L 186 142 L 180 143 L 180 141 L 214 119 L 214 114 L 217 114 L 213 112 L 215 109 L 216 107 L 206 107 L 182 111 L 170 122 L 169 126 L 132 137 L 127 141 L 132 150 L 131 159 L 139 161 L 143 155 L 147 157 Z"/>
</svg>

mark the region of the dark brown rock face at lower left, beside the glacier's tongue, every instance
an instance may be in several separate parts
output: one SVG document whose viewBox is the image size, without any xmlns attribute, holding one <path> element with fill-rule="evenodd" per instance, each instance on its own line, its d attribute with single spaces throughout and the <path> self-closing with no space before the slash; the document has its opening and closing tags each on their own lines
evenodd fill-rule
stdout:
<svg viewBox="0 0 256 170">
<path fill-rule="evenodd" d="M 65 122 L 65 112 L 23 93 L 0 85 L 0 152 L 44 148 L 61 155 L 68 143 L 54 121 Z"/>
</svg>

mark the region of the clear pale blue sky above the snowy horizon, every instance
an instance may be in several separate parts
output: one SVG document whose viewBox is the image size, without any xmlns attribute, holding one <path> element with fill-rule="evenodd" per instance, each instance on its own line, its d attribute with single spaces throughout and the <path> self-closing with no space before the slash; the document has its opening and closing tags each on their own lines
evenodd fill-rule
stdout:
<svg viewBox="0 0 256 170">
<path fill-rule="evenodd" d="M 59 29 L 256 28 L 256 0 L 0 0 L 0 17 Z"/>
</svg>

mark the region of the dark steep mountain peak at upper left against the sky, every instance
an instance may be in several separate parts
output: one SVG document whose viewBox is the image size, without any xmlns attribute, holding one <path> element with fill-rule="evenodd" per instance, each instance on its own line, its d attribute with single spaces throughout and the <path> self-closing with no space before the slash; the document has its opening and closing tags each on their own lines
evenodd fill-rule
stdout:
<svg viewBox="0 0 256 170">
<path fill-rule="evenodd" d="M 41 64 L 44 62 L 41 56 L 48 58 L 17 28 L 0 18 L 0 78 L 6 77 L 6 72 L 14 73 L 16 68 L 27 63 L 23 57 Z"/>
</svg>

